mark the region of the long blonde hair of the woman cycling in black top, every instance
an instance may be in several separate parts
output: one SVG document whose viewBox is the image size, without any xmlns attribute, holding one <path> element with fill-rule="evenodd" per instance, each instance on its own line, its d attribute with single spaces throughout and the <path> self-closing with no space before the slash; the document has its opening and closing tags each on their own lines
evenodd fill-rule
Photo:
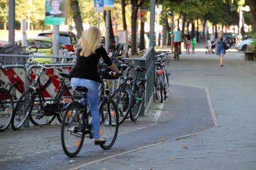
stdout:
<svg viewBox="0 0 256 170">
<path fill-rule="evenodd" d="M 79 39 L 78 46 L 82 48 L 80 56 L 90 56 L 99 47 L 101 40 L 100 30 L 96 26 L 85 30 Z"/>
</svg>

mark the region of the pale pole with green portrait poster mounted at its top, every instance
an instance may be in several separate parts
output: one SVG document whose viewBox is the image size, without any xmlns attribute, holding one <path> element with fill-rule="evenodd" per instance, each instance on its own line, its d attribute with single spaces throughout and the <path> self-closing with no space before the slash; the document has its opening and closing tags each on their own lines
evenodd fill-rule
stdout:
<svg viewBox="0 0 256 170">
<path fill-rule="evenodd" d="M 65 0 L 45 1 L 45 24 L 53 25 L 53 56 L 59 56 L 59 25 L 65 24 Z"/>
</svg>

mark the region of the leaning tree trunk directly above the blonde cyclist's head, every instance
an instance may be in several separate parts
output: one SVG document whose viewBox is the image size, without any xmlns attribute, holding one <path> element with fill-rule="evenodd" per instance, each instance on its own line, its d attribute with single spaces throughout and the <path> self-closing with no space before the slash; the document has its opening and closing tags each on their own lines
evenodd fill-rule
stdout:
<svg viewBox="0 0 256 170">
<path fill-rule="evenodd" d="M 75 0 L 70 1 L 70 7 L 71 7 L 71 13 L 73 13 L 73 20 L 75 22 L 75 30 L 77 31 L 77 37 L 80 38 L 80 36 L 84 32 L 84 28 L 82 24 L 83 22 L 82 22 L 78 1 L 75 1 Z"/>
</svg>

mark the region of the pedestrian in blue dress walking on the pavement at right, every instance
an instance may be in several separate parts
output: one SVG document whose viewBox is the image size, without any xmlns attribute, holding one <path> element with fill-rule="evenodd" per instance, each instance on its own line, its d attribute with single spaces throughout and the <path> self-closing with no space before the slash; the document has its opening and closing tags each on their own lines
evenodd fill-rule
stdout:
<svg viewBox="0 0 256 170">
<path fill-rule="evenodd" d="M 220 67 L 223 67 L 223 58 L 224 58 L 224 54 L 226 54 L 226 37 L 224 36 L 223 32 L 221 31 L 217 40 L 216 40 L 216 44 L 217 45 L 217 55 L 220 56 Z"/>
</svg>

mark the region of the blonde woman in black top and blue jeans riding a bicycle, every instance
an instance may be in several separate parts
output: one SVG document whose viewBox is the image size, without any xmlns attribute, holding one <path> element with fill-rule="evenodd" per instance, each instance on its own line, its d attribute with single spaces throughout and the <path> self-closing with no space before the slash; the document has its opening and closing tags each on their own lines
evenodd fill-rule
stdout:
<svg viewBox="0 0 256 170">
<path fill-rule="evenodd" d="M 110 60 L 106 50 L 100 47 L 100 30 L 96 26 L 85 30 L 78 42 L 77 58 L 75 66 L 71 69 L 69 77 L 71 79 L 71 86 L 83 86 L 88 89 L 87 98 L 90 105 L 90 112 L 92 114 L 92 128 L 94 131 L 95 143 L 105 142 L 104 138 L 100 138 L 100 118 L 99 118 L 99 95 L 98 82 L 100 77 L 98 75 L 98 62 L 102 57 L 106 65 L 114 71 L 114 76 L 119 74 L 116 65 Z"/>
</svg>

